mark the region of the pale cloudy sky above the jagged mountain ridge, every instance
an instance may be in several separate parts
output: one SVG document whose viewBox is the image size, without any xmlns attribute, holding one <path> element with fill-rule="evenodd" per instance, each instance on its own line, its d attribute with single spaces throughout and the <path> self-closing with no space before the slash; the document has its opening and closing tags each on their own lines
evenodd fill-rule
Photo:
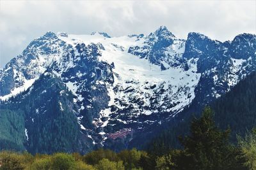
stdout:
<svg viewBox="0 0 256 170">
<path fill-rule="evenodd" d="M 201 32 L 225 41 L 256 33 L 256 1 L 0 0 L 0 68 L 46 31 L 111 36 L 148 34 L 160 25 L 179 38 Z"/>
</svg>

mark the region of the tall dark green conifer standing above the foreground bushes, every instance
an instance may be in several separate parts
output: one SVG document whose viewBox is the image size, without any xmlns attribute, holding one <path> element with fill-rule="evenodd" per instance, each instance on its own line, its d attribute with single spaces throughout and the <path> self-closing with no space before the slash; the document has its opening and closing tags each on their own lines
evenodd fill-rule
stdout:
<svg viewBox="0 0 256 170">
<path fill-rule="evenodd" d="M 180 141 L 184 150 L 174 159 L 177 169 L 244 169 L 241 150 L 230 145 L 228 131 L 213 121 L 210 108 L 191 123 L 191 134 Z"/>
</svg>

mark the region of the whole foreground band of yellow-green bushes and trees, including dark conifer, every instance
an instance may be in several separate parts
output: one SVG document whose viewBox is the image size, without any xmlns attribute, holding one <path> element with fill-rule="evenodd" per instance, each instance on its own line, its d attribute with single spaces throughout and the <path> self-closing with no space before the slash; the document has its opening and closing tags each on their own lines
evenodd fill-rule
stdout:
<svg viewBox="0 0 256 170">
<path fill-rule="evenodd" d="M 207 107 L 202 117 L 193 118 L 189 135 L 179 138 L 180 150 L 132 149 L 116 153 L 100 149 L 86 155 L 4 151 L 0 153 L 0 169 L 255 169 L 256 129 L 244 138 L 237 137 L 239 142 L 233 145 L 229 140 L 230 129 L 219 129 L 213 116 Z"/>
</svg>

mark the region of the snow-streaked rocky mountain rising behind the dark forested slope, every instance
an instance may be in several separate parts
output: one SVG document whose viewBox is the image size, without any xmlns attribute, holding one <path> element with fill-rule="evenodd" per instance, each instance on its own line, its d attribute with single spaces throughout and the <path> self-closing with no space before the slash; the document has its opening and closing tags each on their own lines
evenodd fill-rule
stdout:
<svg viewBox="0 0 256 170">
<path fill-rule="evenodd" d="M 202 107 L 225 94 L 255 67 L 253 34 L 222 43 L 195 32 L 179 39 L 163 26 L 147 36 L 113 38 L 105 32 L 47 32 L 0 71 L 1 108 L 24 110 L 28 150 L 65 150 L 35 145 L 38 139 L 51 141 L 35 135 L 54 131 L 44 127 L 45 113 L 50 122 L 57 119 L 53 113 L 76 119 L 66 122 L 74 124 L 76 139 L 74 147 L 67 145 L 68 152 L 113 143 L 127 148 L 141 132 L 150 132 L 184 108 Z M 38 103 L 33 97 L 39 97 Z M 26 108 L 22 101 L 29 101 L 23 103 Z"/>
</svg>

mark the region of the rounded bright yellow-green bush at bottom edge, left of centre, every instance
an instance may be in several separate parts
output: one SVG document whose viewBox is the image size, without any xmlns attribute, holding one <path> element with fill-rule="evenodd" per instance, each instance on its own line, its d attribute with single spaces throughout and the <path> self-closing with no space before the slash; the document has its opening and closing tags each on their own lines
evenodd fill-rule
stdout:
<svg viewBox="0 0 256 170">
<path fill-rule="evenodd" d="M 52 169 L 72 169 L 75 167 L 76 160 L 67 153 L 55 153 L 51 158 Z"/>
</svg>

